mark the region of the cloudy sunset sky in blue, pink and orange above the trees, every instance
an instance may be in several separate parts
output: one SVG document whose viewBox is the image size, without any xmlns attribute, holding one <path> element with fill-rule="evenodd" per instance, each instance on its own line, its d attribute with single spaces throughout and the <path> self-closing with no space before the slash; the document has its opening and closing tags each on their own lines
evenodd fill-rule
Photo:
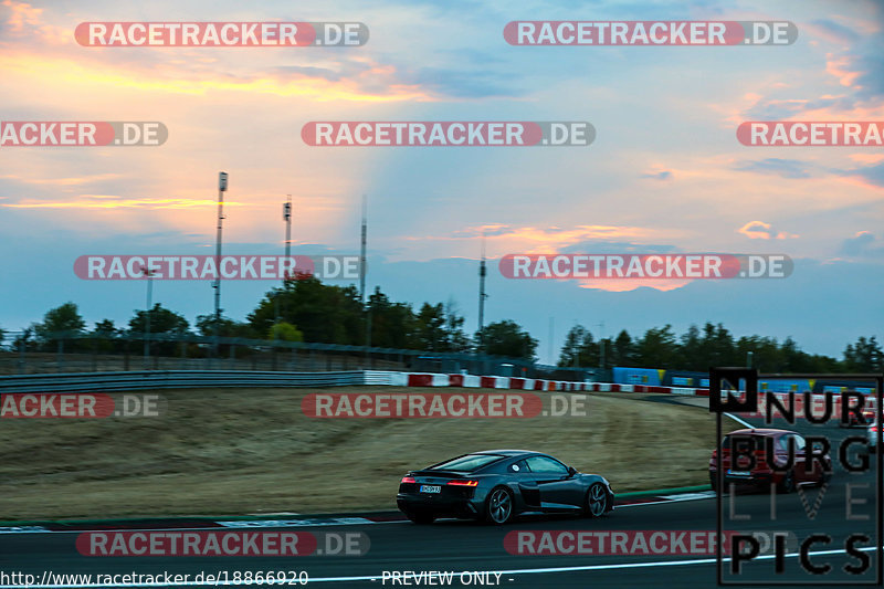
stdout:
<svg viewBox="0 0 884 589">
<path fill-rule="evenodd" d="M 789 20 L 786 46 L 513 46 L 513 20 Z M 359 48 L 88 48 L 86 21 L 359 21 Z M 745 120 L 884 120 L 884 8 L 862 1 L 0 2 L 0 120 L 157 120 L 158 147 L 0 147 L 0 327 L 73 301 L 124 325 L 144 283 L 85 282 L 84 254 L 355 253 L 393 299 L 511 318 L 558 356 L 604 335 L 723 322 L 840 357 L 884 336 L 884 149 L 745 147 Z M 588 120 L 589 147 L 311 147 L 312 120 Z M 512 281 L 508 253 L 783 253 L 785 280 Z M 273 283 L 225 284 L 243 319 Z M 192 323 L 208 282 L 157 282 Z M 550 339 L 550 323 L 554 337 Z M 615 335 L 615 334 L 614 334 Z"/>
</svg>

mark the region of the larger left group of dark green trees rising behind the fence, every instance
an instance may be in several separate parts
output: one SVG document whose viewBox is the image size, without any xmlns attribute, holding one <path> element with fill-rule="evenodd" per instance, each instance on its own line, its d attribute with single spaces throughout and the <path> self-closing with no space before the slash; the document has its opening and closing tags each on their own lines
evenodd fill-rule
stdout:
<svg viewBox="0 0 884 589">
<path fill-rule="evenodd" d="M 537 339 L 516 322 L 491 323 L 469 335 L 464 317 L 454 301 L 423 303 L 394 302 L 380 287 L 364 305 L 355 286 L 323 284 L 315 277 L 287 280 L 267 292 L 245 320 L 214 315 L 198 315 L 194 324 L 157 303 L 149 311 L 136 309 L 125 326 L 112 319 L 96 322 L 88 329 L 75 303 L 50 309 L 42 322 L 33 323 L 12 343 L 12 349 L 54 351 L 64 334 L 65 349 L 76 349 L 77 339 L 93 338 L 103 351 L 119 351 L 126 339 L 149 333 L 157 340 L 189 335 L 246 339 L 308 341 L 428 353 L 482 353 L 533 361 Z M 165 336 L 165 337 L 164 337 Z M 2 343 L 0 332 L 0 343 Z M 115 341 L 118 340 L 118 341 Z M 82 343 L 80 347 L 94 346 Z M 158 353 L 175 354 L 173 344 L 155 341 Z"/>
</svg>

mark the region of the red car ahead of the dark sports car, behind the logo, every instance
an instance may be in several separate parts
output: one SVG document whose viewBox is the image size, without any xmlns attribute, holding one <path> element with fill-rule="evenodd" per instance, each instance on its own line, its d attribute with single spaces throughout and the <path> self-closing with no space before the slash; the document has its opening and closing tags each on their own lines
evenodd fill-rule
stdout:
<svg viewBox="0 0 884 589">
<path fill-rule="evenodd" d="M 740 446 L 739 444 L 746 444 Z M 751 459 L 736 451 L 739 448 L 749 448 L 753 444 Z M 768 444 L 772 444 L 774 460 L 779 466 L 785 466 L 789 461 L 789 444 L 793 444 L 794 460 L 788 470 L 775 470 L 767 456 Z M 804 464 L 810 457 L 807 442 L 797 432 L 789 430 L 775 429 L 745 429 L 736 430 L 725 435 L 719 449 L 722 450 L 722 470 L 724 471 L 725 490 L 730 488 L 730 484 L 754 485 L 767 487 L 771 483 L 777 485 L 780 493 L 791 493 L 798 485 L 815 484 L 820 485 L 828 481 L 832 473 L 832 459 L 827 453 L 820 460 L 813 461 L 814 464 Z M 737 463 L 733 464 L 732 452 L 738 454 Z M 713 490 L 718 485 L 718 471 L 716 464 L 718 450 L 713 451 L 709 460 L 709 482 Z M 746 452 L 748 453 L 748 452 Z M 822 466 L 822 467 L 821 467 Z"/>
</svg>

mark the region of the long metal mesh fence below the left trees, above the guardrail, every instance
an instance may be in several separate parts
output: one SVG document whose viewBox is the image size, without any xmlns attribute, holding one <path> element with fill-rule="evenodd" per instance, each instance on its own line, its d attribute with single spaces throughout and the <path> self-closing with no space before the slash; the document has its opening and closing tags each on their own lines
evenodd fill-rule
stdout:
<svg viewBox="0 0 884 589">
<path fill-rule="evenodd" d="M 524 358 L 473 353 L 434 353 L 207 337 L 190 334 L 49 334 L 40 339 L 7 333 L 0 348 L 0 375 L 120 372 L 120 371 L 285 371 L 409 370 L 475 375 L 556 378 L 582 381 L 593 369 L 537 365 Z"/>
</svg>

